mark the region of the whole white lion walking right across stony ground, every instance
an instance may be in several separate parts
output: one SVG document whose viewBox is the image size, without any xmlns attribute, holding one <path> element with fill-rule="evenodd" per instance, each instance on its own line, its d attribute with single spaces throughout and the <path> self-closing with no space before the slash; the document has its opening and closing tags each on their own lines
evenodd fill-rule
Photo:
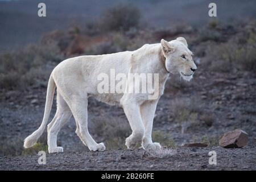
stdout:
<svg viewBox="0 0 256 182">
<path fill-rule="evenodd" d="M 148 100 L 150 93 L 103 93 L 97 92 L 100 73 L 109 74 L 110 69 L 116 73 L 159 73 L 159 96 Z M 133 148 L 137 143 L 145 150 L 161 148 L 151 138 L 152 125 L 156 105 L 163 94 L 164 84 L 170 73 L 179 73 L 184 80 L 191 80 L 196 71 L 192 60 L 192 52 L 188 49 L 184 38 L 171 42 L 162 39 L 158 44 L 145 44 L 135 51 L 125 51 L 108 55 L 79 56 L 62 61 L 53 69 L 49 77 L 46 106 L 43 122 L 39 129 L 24 140 L 24 147 L 32 147 L 47 125 L 51 111 L 55 87 L 57 87 L 57 111 L 48 124 L 48 151 L 63 152 L 57 146 L 57 134 L 61 127 L 71 118 L 76 121 L 76 134 L 91 151 L 104 151 L 104 143 L 96 143 L 88 131 L 88 97 L 93 96 L 99 101 L 123 107 L 130 123 L 132 134 L 126 139 L 126 146 Z M 131 84 L 127 78 L 126 86 Z"/>
</svg>

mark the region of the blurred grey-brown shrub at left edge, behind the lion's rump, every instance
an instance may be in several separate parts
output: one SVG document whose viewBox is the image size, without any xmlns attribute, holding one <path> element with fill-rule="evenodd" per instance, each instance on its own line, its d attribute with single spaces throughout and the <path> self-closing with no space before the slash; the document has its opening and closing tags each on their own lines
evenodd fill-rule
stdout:
<svg viewBox="0 0 256 182">
<path fill-rule="evenodd" d="M 20 52 L 0 57 L 0 85 L 5 89 L 24 88 L 49 78 L 49 62 L 59 62 L 56 47 L 31 44 Z M 56 64 L 56 63 L 55 63 Z M 51 67 L 51 66 L 49 66 Z"/>
</svg>

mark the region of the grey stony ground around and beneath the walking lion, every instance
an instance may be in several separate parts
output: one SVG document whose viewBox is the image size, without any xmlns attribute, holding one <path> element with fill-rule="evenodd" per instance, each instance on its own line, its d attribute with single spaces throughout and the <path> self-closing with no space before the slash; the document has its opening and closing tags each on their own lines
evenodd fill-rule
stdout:
<svg viewBox="0 0 256 182">
<path fill-rule="evenodd" d="M 127 131 L 130 132 L 123 110 L 91 99 L 89 129 L 97 142 L 106 142 L 107 150 L 88 151 L 75 134 L 75 121 L 72 118 L 58 136 L 59 144 L 64 147 L 64 153 L 47 154 L 46 165 L 37 163 L 39 156 L 36 153 L 22 154 L 22 140 L 42 122 L 46 88 L 35 87 L 23 92 L 2 90 L 0 169 L 255 170 L 255 84 L 255 75 L 247 72 L 234 76 L 213 72 L 203 73 L 199 69 L 191 82 L 184 82 L 176 76 L 170 78 L 165 94 L 159 101 L 154 122 L 154 131 L 161 134 L 158 138 L 156 136 L 156 142 L 169 148 L 176 148 L 172 155 L 164 156 L 148 156 L 141 149 L 126 150 L 120 146 L 115 146 L 117 149 L 114 150 L 113 141 L 112 143 L 105 141 L 106 137 L 101 134 L 100 127 L 109 129 L 109 123 L 117 121 L 121 128 L 127 127 Z M 181 112 L 177 115 L 177 111 L 182 108 L 185 108 L 185 114 Z M 53 106 L 51 117 L 55 110 L 56 107 Z M 187 110 L 189 114 L 186 114 Z M 95 123 L 104 119 L 106 126 L 96 127 Z M 220 135 L 234 129 L 242 129 L 249 134 L 247 146 L 234 149 L 219 147 Z M 42 138 L 46 138 L 45 135 Z M 168 141 L 172 141 L 172 144 L 168 145 Z M 46 143 L 45 140 L 42 142 Z M 180 147 L 187 142 L 208 142 L 209 147 Z M 125 140 L 121 139 L 121 143 L 125 143 Z M 208 163 L 208 152 L 212 150 L 217 152 L 216 166 Z"/>
</svg>

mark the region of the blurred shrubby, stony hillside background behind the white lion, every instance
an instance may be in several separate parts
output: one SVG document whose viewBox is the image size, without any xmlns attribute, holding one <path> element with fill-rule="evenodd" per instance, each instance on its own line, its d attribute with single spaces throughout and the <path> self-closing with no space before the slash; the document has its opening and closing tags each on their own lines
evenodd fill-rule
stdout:
<svg viewBox="0 0 256 182">
<path fill-rule="evenodd" d="M 23 139 L 43 118 L 48 77 L 60 61 L 78 55 L 133 51 L 145 43 L 183 36 L 198 71 L 191 82 L 172 75 L 155 114 L 153 138 L 163 146 L 218 145 L 226 131 L 256 140 L 256 1 L 0 0 L 0 155 L 47 150 L 46 133 L 23 150 Z M 89 100 L 89 130 L 107 150 L 125 148 L 131 133 L 121 108 Z M 52 116 L 56 111 L 53 105 Z M 88 150 L 75 121 L 60 131 L 65 151 Z"/>
</svg>

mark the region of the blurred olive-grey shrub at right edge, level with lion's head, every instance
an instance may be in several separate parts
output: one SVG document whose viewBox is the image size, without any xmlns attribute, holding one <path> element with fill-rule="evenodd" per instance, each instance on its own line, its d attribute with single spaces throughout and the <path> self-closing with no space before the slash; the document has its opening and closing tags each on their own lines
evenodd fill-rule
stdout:
<svg viewBox="0 0 256 182">
<path fill-rule="evenodd" d="M 228 42 L 209 46 L 206 55 L 212 71 L 256 71 L 256 33 L 244 30 Z"/>
</svg>

